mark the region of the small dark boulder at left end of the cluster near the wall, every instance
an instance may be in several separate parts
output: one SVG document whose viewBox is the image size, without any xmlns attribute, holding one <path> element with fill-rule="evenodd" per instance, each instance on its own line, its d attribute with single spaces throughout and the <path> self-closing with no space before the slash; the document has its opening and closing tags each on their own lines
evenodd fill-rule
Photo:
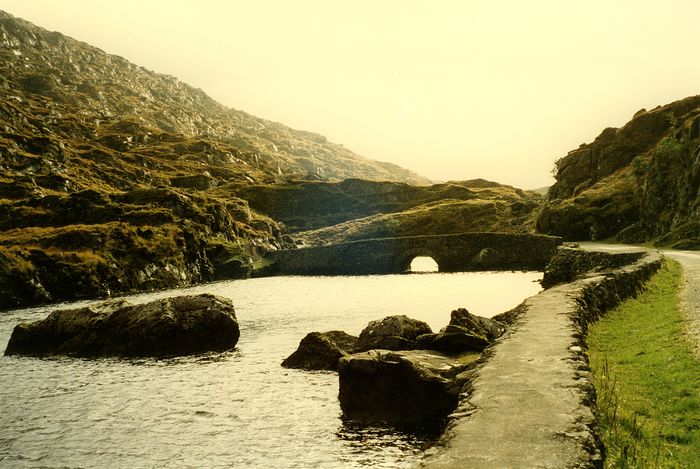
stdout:
<svg viewBox="0 0 700 469">
<path fill-rule="evenodd" d="M 311 332 L 299 343 L 299 348 L 287 357 L 282 366 L 304 370 L 338 369 L 338 361 L 352 353 L 357 337 L 343 331 Z"/>
</svg>

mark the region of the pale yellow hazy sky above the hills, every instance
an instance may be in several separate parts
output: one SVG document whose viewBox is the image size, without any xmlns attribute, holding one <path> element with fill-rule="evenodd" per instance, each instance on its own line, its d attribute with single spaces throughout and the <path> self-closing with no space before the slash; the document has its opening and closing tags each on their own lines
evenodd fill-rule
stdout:
<svg viewBox="0 0 700 469">
<path fill-rule="evenodd" d="M 535 188 L 699 94 L 696 1 L 0 0 L 0 9 L 436 180 Z"/>
</svg>

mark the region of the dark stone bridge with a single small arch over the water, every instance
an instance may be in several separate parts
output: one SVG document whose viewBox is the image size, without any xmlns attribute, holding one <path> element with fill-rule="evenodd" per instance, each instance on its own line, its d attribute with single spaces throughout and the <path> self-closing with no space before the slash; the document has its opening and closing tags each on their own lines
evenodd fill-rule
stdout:
<svg viewBox="0 0 700 469">
<path fill-rule="evenodd" d="M 543 270 L 561 238 L 510 233 L 460 233 L 375 238 L 272 252 L 276 274 L 367 275 L 408 270 L 418 256 L 432 257 L 440 272 Z"/>
</svg>

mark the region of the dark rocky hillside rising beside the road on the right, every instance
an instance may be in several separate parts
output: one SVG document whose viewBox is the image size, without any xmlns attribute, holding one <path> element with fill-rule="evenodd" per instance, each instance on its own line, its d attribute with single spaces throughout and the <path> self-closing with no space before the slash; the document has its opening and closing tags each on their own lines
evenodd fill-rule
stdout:
<svg viewBox="0 0 700 469">
<path fill-rule="evenodd" d="M 700 96 L 642 109 L 569 152 L 555 171 L 539 231 L 700 248 Z"/>
</svg>

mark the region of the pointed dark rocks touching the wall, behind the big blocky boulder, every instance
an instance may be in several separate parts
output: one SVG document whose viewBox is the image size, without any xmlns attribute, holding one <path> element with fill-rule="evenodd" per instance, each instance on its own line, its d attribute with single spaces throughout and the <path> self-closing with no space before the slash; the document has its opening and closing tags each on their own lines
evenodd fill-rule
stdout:
<svg viewBox="0 0 700 469">
<path fill-rule="evenodd" d="M 459 308 L 452 311 L 450 323 L 440 332 L 418 337 L 418 348 L 449 354 L 482 351 L 505 330 L 506 326 L 498 321 Z"/>
</svg>

